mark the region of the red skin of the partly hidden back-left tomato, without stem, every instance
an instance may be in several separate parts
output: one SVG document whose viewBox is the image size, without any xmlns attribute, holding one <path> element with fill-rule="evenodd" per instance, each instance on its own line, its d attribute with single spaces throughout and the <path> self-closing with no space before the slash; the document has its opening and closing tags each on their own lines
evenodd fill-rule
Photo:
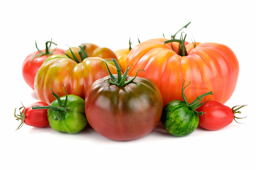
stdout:
<svg viewBox="0 0 256 170">
<path fill-rule="evenodd" d="M 41 50 L 43 53 L 45 53 L 45 50 Z M 63 54 L 65 50 L 56 48 L 52 54 Z M 33 56 L 40 54 L 39 51 L 36 51 L 34 53 L 31 53 L 28 55 L 22 64 L 22 76 L 25 80 L 25 82 L 34 89 L 34 80 L 36 76 L 36 72 L 39 69 L 39 67 L 42 65 L 42 63 L 50 56 L 50 55 L 42 55 L 38 58 L 33 58 Z"/>
</svg>

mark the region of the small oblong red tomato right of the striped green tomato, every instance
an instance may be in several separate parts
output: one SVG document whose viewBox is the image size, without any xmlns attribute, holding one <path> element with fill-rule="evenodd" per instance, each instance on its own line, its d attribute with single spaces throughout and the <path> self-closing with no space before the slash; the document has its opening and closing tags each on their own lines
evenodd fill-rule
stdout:
<svg viewBox="0 0 256 170">
<path fill-rule="evenodd" d="M 246 105 L 234 106 L 230 108 L 220 102 L 210 100 L 197 109 L 199 112 L 204 112 L 202 116 L 199 116 L 199 126 L 207 130 L 221 129 L 229 125 L 233 119 L 239 119 L 239 117 L 234 116 L 234 114 L 241 113 L 237 110 L 244 106 Z M 235 107 L 238 108 L 235 109 Z"/>
</svg>

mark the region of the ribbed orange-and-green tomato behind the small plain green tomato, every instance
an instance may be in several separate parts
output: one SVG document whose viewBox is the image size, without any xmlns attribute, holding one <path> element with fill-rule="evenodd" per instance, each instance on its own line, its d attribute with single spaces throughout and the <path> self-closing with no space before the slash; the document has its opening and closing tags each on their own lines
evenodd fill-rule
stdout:
<svg viewBox="0 0 256 170">
<path fill-rule="evenodd" d="M 55 99 L 50 87 L 57 95 L 64 96 L 63 84 L 67 94 L 74 94 L 84 99 L 89 86 L 95 80 L 108 75 L 108 69 L 103 61 L 106 61 L 109 69 L 115 72 L 115 66 L 109 64 L 112 61 L 107 61 L 111 57 L 116 58 L 114 52 L 111 53 L 106 48 L 99 49 L 93 44 L 82 44 L 78 48 L 69 48 L 65 55 L 50 56 L 38 69 L 34 85 L 39 100 L 50 104 Z M 72 52 L 71 56 L 69 52 Z M 99 57 L 95 57 L 94 54 Z"/>
</svg>

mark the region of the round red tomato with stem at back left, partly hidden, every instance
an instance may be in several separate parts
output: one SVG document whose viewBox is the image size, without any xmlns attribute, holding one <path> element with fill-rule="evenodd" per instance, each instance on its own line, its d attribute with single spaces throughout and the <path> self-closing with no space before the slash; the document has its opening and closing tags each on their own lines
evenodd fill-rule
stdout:
<svg viewBox="0 0 256 170">
<path fill-rule="evenodd" d="M 39 50 L 37 48 L 36 52 L 31 53 L 28 55 L 23 64 L 22 64 L 22 76 L 25 80 L 25 82 L 34 89 L 34 80 L 36 76 L 36 72 L 39 69 L 39 67 L 42 65 L 42 63 L 53 54 L 63 54 L 65 50 L 55 48 L 53 50 L 50 50 L 51 44 L 55 44 L 52 41 L 47 41 L 45 50 Z M 49 44 L 49 46 L 48 46 Z M 57 44 L 55 44 L 57 45 Z"/>
</svg>

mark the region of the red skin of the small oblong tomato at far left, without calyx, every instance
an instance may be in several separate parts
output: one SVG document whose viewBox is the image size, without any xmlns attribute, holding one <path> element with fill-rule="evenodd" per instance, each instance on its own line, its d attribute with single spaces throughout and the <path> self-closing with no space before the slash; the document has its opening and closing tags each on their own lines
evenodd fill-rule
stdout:
<svg viewBox="0 0 256 170">
<path fill-rule="evenodd" d="M 26 109 L 25 109 L 24 123 L 33 127 L 48 126 L 49 121 L 47 118 L 47 110 L 46 109 L 33 110 L 32 106 L 48 106 L 48 104 L 45 102 L 39 101 L 25 107 Z"/>
</svg>

